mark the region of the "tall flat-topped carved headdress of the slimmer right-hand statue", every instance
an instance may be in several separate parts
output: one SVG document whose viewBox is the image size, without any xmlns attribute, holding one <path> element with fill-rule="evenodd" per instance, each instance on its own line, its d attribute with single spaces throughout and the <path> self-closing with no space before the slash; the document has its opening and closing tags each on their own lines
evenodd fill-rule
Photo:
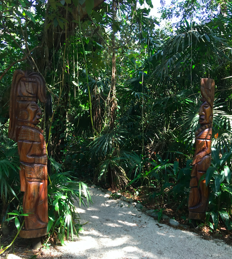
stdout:
<svg viewBox="0 0 232 259">
<path fill-rule="evenodd" d="M 208 78 L 201 78 L 202 97 L 206 100 L 206 102 L 211 107 L 213 107 L 214 88 L 215 88 L 214 80 L 208 80 Z"/>
</svg>

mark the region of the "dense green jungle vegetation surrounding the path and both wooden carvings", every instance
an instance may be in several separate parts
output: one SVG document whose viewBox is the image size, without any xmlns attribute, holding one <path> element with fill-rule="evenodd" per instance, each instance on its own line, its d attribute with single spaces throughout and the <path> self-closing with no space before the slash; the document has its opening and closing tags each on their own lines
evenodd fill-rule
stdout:
<svg viewBox="0 0 232 259">
<path fill-rule="evenodd" d="M 1 0 L 1 252 L 9 230 L 15 237 L 23 224 L 17 143 L 7 137 L 16 69 L 43 75 L 50 100 L 41 105 L 40 123 L 51 163 L 45 247 L 78 233 L 74 202 L 91 202 L 91 184 L 191 225 L 200 78 L 209 77 L 210 196 L 206 221 L 195 231 L 231 242 L 231 35 L 230 0 Z"/>
</svg>

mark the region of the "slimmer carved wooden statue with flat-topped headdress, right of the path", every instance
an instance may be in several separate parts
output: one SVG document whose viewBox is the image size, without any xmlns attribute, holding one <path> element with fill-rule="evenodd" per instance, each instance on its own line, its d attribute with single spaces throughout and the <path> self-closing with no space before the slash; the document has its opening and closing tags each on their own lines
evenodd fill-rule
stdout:
<svg viewBox="0 0 232 259">
<path fill-rule="evenodd" d="M 203 97 L 201 99 L 203 103 L 199 111 L 201 127 L 196 131 L 196 150 L 192 162 L 191 190 L 188 200 L 189 219 L 204 220 L 208 207 L 209 189 L 206 186 L 206 180 L 201 181 L 200 184 L 199 180 L 206 174 L 211 163 L 214 87 L 213 79 L 201 79 Z"/>
</svg>

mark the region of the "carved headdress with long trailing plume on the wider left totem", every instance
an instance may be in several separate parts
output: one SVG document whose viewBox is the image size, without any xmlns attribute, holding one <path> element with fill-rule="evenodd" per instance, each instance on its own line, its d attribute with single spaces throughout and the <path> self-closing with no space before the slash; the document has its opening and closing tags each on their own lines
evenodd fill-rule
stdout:
<svg viewBox="0 0 232 259">
<path fill-rule="evenodd" d="M 16 140 L 19 101 L 46 103 L 46 82 L 38 73 L 16 70 L 10 91 L 10 123 L 8 137 Z"/>
</svg>

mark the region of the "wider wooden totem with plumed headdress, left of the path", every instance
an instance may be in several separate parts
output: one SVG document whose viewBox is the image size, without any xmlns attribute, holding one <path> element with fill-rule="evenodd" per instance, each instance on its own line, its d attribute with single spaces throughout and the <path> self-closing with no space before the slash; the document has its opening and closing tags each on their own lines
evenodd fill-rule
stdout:
<svg viewBox="0 0 232 259">
<path fill-rule="evenodd" d="M 40 102 L 46 102 L 44 78 L 34 72 L 16 70 L 10 92 L 9 138 L 18 142 L 20 156 L 21 191 L 25 228 L 23 238 L 35 238 L 47 234 L 47 155 L 43 130 L 37 127 L 41 119 Z"/>
</svg>

